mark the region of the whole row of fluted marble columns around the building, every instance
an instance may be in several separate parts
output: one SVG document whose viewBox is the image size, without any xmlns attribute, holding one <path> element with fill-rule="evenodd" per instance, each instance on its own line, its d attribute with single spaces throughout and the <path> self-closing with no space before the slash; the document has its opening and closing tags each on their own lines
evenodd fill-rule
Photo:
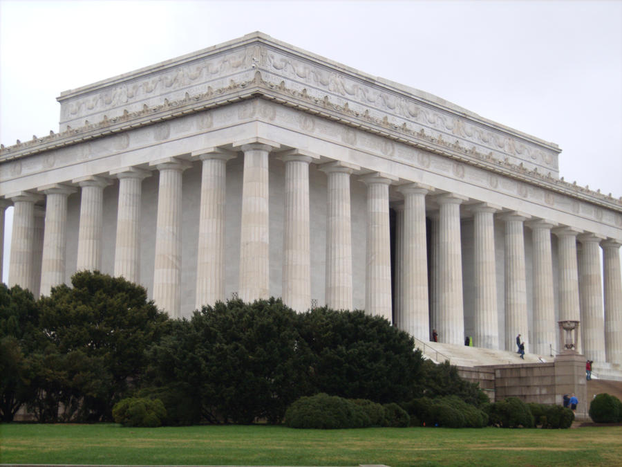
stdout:
<svg viewBox="0 0 622 467">
<path fill-rule="evenodd" d="M 243 300 L 269 296 L 270 277 L 270 154 L 277 143 L 234 145 L 243 152 L 241 239 L 238 295 Z M 298 150 L 277 152 L 284 163 L 283 301 L 296 311 L 311 306 L 309 167 L 314 156 Z M 191 153 L 201 161 L 202 178 L 196 306 L 225 300 L 225 181 L 226 164 L 236 152 L 209 148 Z M 140 282 L 140 205 L 142 180 L 159 172 L 153 298 L 173 316 L 180 315 L 182 271 L 182 174 L 191 163 L 166 158 L 150 170 L 123 167 L 105 176 L 86 176 L 39 187 L 38 193 L 8 196 L 15 207 L 10 251 L 9 285 L 19 284 L 41 294 L 64 280 L 68 196 L 81 193 L 77 270 L 95 270 L 102 261 L 103 190 L 119 178 L 114 274 Z M 352 221 L 350 179 L 361 167 L 339 161 L 319 163 L 327 177 L 326 304 L 352 309 Z M 474 340 L 478 347 L 515 349 L 521 333 L 538 354 L 548 354 L 555 341 L 552 235 L 558 237 L 559 319 L 579 320 L 583 353 L 596 361 L 622 362 L 622 280 L 620 244 L 569 226 L 557 226 L 523 212 L 505 210 L 456 193 L 434 192 L 420 183 L 399 183 L 374 172 L 359 178 L 367 186 L 365 309 L 395 320 L 400 329 L 428 340 L 437 329 L 441 342 L 464 340 L 461 209 L 473 215 L 472 265 Z M 392 282 L 390 186 L 404 196 L 396 206 L 396 277 Z M 46 212 L 37 240 L 36 203 L 45 196 Z M 426 215 L 426 200 L 438 206 Z M 8 203 L 0 201 L 0 226 Z M 426 217 L 431 219 L 431 265 L 428 273 Z M 40 218 L 41 221 L 43 218 Z M 505 290 L 496 284 L 495 219 L 505 224 Z M 43 224 L 41 223 L 41 226 Z M 531 229 L 533 271 L 525 262 L 525 226 Z M 37 244 L 41 244 L 37 253 Z M 577 244 L 581 248 L 577 250 Z M 599 268 L 601 248 L 603 277 Z M 577 261 L 580 253 L 580 262 Z M 38 255 L 38 257 L 37 257 Z M 1 263 L 1 262 L 0 262 Z M 38 265 L 38 266 L 37 266 Z M 469 266 L 471 267 L 471 266 Z M 37 269 L 39 268 L 39 269 Z M 527 275 L 533 275 L 533 319 L 529 330 Z M 428 277 L 430 283 L 428 284 Z M 601 289 L 601 279 L 604 282 Z M 393 291 L 395 286 L 395 293 Z M 498 332 L 498 294 L 505 297 L 505 342 Z M 431 297 L 428 297 L 431 294 Z M 393 302 L 395 300 L 395 303 Z M 428 304 L 431 310 L 428 311 Z M 604 307 L 603 307 L 604 304 Z M 430 312 L 431 311 L 431 312 Z M 431 319 L 431 322 L 429 320 Z M 529 342 L 529 336 L 533 342 Z"/>
</svg>

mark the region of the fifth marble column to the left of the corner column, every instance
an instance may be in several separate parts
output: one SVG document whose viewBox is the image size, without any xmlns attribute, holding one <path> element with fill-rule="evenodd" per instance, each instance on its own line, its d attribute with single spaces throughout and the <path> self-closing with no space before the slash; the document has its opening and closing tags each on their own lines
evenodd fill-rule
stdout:
<svg viewBox="0 0 622 467">
<path fill-rule="evenodd" d="M 39 188 L 46 195 L 46 224 L 41 259 L 41 295 L 50 295 L 52 287 L 65 282 L 67 243 L 67 198 L 76 190 L 55 183 Z"/>
</svg>

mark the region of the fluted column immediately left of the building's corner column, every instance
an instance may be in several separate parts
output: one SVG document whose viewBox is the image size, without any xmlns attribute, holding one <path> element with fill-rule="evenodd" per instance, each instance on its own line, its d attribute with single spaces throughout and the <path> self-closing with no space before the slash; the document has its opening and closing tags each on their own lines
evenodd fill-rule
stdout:
<svg viewBox="0 0 622 467">
<path fill-rule="evenodd" d="M 225 194 L 227 161 L 233 152 L 214 148 L 202 161 L 201 205 L 196 258 L 196 309 L 225 301 Z"/>
</svg>

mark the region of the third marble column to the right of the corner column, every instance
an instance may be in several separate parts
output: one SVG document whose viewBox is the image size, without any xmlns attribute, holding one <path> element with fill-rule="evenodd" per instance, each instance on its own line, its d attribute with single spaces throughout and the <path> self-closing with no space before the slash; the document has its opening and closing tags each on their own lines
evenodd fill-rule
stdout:
<svg viewBox="0 0 622 467">
<path fill-rule="evenodd" d="M 367 269 L 365 311 L 393 321 L 388 187 L 384 174 L 361 177 L 367 185 Z"/>
</svg>

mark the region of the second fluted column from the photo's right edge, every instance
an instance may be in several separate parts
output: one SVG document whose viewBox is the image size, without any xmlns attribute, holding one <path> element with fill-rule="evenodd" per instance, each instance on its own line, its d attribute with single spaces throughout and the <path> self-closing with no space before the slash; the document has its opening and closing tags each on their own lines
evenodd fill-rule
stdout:
<svg viewBox="0 0 622 467">
<path fill-rule="evenodd" d="M 601 240 L 593 234 L 578 236 L 581 241 L 581 342 L 588 360 L 605 362 L 605 320 L 603 318 L 603 284 L 601 282 Z"/>
</svg>

